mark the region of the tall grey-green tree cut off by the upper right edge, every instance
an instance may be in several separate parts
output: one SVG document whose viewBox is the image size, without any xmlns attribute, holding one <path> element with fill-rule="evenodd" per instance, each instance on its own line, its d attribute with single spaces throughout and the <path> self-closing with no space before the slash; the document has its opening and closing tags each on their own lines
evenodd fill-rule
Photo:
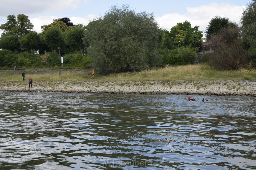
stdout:
<svg viewBox="0 0 256 170">
<path fill-rule="evenodd" d="M 256 0 L 250 1 L 241 18 L 243 37 L 256 48 Z"/>
</svg>

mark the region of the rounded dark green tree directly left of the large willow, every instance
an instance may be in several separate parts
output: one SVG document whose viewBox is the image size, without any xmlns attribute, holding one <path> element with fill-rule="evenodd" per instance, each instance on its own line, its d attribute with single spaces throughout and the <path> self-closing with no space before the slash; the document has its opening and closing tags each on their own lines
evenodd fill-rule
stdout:
<svg viewBox="0 0 256 170">
<path fill-rule="evenodd" d="M 65 34 L 65 45 L 70 48 L 71 51 L 80 51 L 84 54 L 85 45 L 83 43 L 84 31 L 82 28 L 74 28 Z"/>
</svg>

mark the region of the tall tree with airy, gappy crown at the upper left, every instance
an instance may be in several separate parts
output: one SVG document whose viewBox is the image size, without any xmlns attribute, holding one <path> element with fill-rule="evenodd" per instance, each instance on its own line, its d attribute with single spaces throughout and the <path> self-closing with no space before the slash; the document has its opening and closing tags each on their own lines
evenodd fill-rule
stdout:
<svg viewBox="0 0 256 170">
<path fill-rule="evenodd" d="M 0 26 L 3 30 L 2 35 L 18 35 L 20 37 L 23 34 L 27 34 L 33 29 L 34 25 L 28 19 L 28 16 L 24 14 L 7 16 L 7 22 Z"/>
</svg>

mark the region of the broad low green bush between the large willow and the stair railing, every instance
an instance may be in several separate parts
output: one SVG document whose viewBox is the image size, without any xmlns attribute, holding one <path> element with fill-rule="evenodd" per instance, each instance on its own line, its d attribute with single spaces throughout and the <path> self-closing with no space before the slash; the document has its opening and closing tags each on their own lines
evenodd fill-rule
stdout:
<svg viewBox="0 0 256 170">
<path fill-rule="evenodd" d="M 184 48 L 183 50 L 178 50 L 176 48 L 169 51 L 166 57 L 166 63 L 174 66 L 194 64 L 195 58 L 196 52 L 194 49 Z"/>
</svg>

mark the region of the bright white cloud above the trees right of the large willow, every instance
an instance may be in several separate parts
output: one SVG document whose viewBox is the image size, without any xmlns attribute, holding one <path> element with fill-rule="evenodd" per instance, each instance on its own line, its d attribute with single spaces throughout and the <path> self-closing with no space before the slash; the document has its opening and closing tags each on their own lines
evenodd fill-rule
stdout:
<svg viewBox="0 0 256 170">
<path fill-rule="evenodd" d="M 185 15 L 174 13 L 156 17 L 156 21 L 160 27 L 170 30 L 178 22 L 185 22 L 187 20 L 191 23 L 191 27 L 197 25 L 199 26 L 199 30 L 205 33 L 208 23 L 217 15 L 229 18 L 229 21 L 239 24 L 244 7 L 228 3 L 210 3 L 209 5 L 202 5 L 195 8 L 187 7 Z"/>
</svg>

